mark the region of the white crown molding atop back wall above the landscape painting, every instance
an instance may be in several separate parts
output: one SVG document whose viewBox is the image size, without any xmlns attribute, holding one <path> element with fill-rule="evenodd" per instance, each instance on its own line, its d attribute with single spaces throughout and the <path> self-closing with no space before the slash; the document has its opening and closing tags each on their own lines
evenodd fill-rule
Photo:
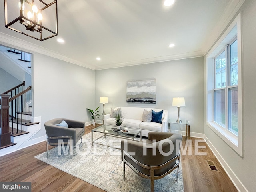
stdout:
<svg viewBox="0 0 256 192">
<path fill-rule="evenodd" d="M 135 60 L 130 62 L 99 65 L 95 67 L 95 70 L 142 65 L 142 64 L 157 63 L 157 62 L 164 62 L 164 61 L 171 61 L 171 60 L 180 60 L 180 59 L 195 58 L 195 57 L 202 57 L 202 56 L 204 56 L 204 53 L 202 51 L 195 51 L 195 52 L 168 55 L 168 56 L 162 56 L 162 57 L 146 58 L 146 59 Z"/>
</svg>

